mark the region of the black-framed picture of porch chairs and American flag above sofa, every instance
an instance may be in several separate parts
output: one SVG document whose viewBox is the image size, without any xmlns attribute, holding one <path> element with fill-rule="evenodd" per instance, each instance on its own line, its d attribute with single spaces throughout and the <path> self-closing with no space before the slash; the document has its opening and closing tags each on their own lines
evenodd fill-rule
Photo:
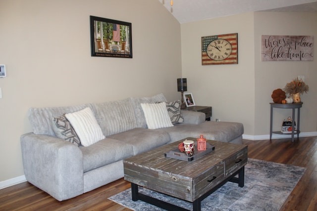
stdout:
<svg viewBox="0 0 317 211">
<path fill-rule="evenodd" d="M 91 56 L 132 58 L 131 23 L 90 16 Z"/>
</svg>

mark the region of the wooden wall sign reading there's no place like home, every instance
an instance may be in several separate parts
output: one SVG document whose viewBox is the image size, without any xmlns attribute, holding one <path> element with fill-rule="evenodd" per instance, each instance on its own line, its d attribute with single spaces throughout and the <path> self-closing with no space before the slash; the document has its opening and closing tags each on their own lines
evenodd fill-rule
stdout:
<svg viewBox="0 0 317 211">
<path fill-rule="evenodd" d="M 313 61 L 314 36 L 262 35 L 262 61 Z"/>
</svg>

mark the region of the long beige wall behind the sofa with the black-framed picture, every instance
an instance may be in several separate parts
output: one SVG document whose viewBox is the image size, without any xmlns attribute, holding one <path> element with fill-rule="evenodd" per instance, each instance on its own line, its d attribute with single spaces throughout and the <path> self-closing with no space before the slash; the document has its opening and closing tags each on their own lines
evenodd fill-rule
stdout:
<svg viewBox="0 0 317 211">
<path fill-rule="evenodd" d="M 180 24 L 158 0 L 0 0 L 0 8 L 0 181 L 24 174 L 30 107 L 179 99 Z M 132 23 L 132 59 L 91 57 L 90 15 Z"/>
</svg>

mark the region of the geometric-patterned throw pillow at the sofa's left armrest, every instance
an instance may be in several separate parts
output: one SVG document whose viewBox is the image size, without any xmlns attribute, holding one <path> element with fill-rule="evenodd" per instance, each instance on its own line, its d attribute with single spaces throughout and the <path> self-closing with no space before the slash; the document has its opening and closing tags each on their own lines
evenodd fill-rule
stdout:
<svg viewBox="0 0 317 211">
<path fill-rule="evenodd" d="M 53 130 L 58 138 L 80 146 L 80 139 L 64 114 L 53 118 Z"/>
</svg>

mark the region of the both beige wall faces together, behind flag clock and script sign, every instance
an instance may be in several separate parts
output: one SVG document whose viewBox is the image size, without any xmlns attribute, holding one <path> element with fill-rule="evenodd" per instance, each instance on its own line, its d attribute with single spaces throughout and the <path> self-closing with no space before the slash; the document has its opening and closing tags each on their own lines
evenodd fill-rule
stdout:
<svg viewBox="0 0 317 211">
<path fill-rule="evenodd" d="M 316 12 L 255 12 L 181 24 L 182 74 L 196 105 L 212 106 L 212 120 L 243 123 L 244 137 L 268 138 L 272 91 L 304 75 L 310 91 L 302 95 L 301 131 L 316 135 L 317 59 L 261 61 L 262 35 L 309 35 L 316 42 L 316 22 Z M 239 64 L 203 66 L 201 37 L 229 33 L 238 33 Z M 316 54 L 317 45 L 314 51 Z M 273 114 L 275 131 L 292 113 L 274 109 Z"/>
</svg>

